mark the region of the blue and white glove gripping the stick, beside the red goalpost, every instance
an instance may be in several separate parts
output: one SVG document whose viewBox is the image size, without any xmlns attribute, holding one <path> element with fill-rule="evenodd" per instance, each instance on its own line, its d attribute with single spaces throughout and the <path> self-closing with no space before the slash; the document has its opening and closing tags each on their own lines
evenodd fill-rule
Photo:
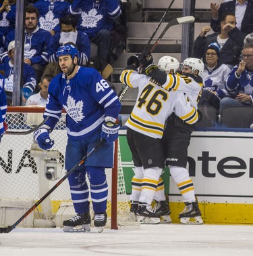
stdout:
<svg viewBox="0 0 253 256">
<path fill-rule="evenodd" d="M 119 125 L 115 124 L 116 119 L 113 121 L 107 121 L 108 119 L 113 118 L 107 117 L 105 119 L 105 123 L 103 123 L 101 131 L 101 140 L 104 140 L 105 144 L 111 144 L 119 137 Z"/>
</svg>

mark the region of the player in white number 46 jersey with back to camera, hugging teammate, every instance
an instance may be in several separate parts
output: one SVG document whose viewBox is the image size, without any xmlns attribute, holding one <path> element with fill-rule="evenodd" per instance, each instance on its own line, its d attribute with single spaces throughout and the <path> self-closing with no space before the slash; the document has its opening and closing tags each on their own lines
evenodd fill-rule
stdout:
<svg viewBox="0 0 253 256">
<path fill-rule="evenodd" d="M 136 215 L 154 219 L 159 223 L 157 213 L 151 203 L 164 168 L 162 137 L 167 117 L 174 111 L 184 122 L 198 121 L 198 112 L 184 95 L 177 91 L 181 77 L 169 74 L 166 89 L 161 88 L 154 79 L 136 71 L 138 62 L 130 58 L 128 67 L 121 73 L 120 81 L 129 87 L 138 87 L 138 97 L 130 118 L 127 139 L 134 161 L 131 201 L 138 202 Z M 141 218 L 139 218 L 141 219 Z"/>
</svg>

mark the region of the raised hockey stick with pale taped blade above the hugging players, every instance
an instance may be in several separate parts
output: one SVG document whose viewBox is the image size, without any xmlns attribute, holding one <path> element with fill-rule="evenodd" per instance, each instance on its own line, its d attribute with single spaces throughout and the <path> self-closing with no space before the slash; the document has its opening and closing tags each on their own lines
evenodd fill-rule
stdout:
<svg viewBox="0 0 253 256">
<path fill-rule="evenodd" d="M 175 26 L 175 25 L 179 25 L 179 24 L 184 24 L 184 23 L 190 23 L 190 22 L 194 22 L 195 18 L 194 16 L 186 16 L 186 17 L 181 17 L 181 18 L 174 18 L 172 20 L 170 20 L 167 24 L 167 26 L 165 26 L 163 32 L 161 33 L 161 35 L 158 37 L 157 41 L 154 43 L 154 45 L 151 47 L 151 49 L 148 51 L 148 54 L 152 54 L 152 52 L 154 51 L 154 49 L 157 47 L 157 45 L 159 45 L 161 39 L 163 38 L 163 36 L 165 35 L 165 33 L 167 32 L 167 30 L 171 27 L 171 26 Z M 150 41 L 148 41 L 145 49 L 148 49 L 150 45 Z M 125 95 L 126 91 L 128 91 L 128 85 L 123 85 L 123 88 L 121 89 L 121 91 L 119 91 L 119 100 L 121 100 L 123 98 L 123 96 Z"/>
</svg>

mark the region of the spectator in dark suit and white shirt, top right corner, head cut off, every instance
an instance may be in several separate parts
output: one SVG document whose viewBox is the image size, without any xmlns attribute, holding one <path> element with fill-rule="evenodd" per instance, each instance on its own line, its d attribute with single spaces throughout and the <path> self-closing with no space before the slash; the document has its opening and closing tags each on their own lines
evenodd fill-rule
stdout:
<svg viewBox="0 0 253 256">
<path fill-rule="evenodd" d="M 225 13 L 231 13 L 235 15 L 237 21 L 237 28 L 239 28 L 244 35 L 248 35 L 253 32 L 253 1 L 252 0 L 233 0 L 227 3 L 221 3 L 219 6 L 217 3 L 211 3 L 210 9 L 212 11 L 212 19 L 210 26 L 213 31 L 221 31 L 221 17 Z"/>
</svg>

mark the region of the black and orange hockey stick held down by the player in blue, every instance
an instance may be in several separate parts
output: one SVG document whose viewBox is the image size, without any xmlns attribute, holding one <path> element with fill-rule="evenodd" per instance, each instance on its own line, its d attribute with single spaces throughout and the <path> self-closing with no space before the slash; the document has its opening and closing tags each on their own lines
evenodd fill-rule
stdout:
<svg viewBox="0 0 253 256">
<path fill-rule="evenodd" d="M 40 198 L 40 200 L 38 200 L 38 202 L 36 202 L 35 205 L 33 205 L 28 211 L 26 211 L 26 213 L 24 213 L 24 215 L 22 217 L 20 217 L 20 219 L 18 219 L 18 221 L 16 221 L 12 226 L 9 226 L 7 228 L 0 228 L 0 233 L 9 233 L 9 232 L 11 232 L 11 230 L 16 228 L 16 226 L 18 226 L 18 224 L 24 218 L 26 218 L 36 207 L 38 207 L 38 205 L 40 205 L 40 203 L 43 202 L 43 200 L 45 200 L 47 198 L 47 196 L 49 196 L 49 194 L 51 194 L 56 188 L 58 188 L 64 182 L 64 180 L 67 179 L 67 177 L 69 177 L 69 175 L 74 173 L 74 171 L 76 171 L 76 169 L 78 167 L 80 167 L 80 165 L 82 165 L 103 144 L 104 144 L 104 141 L 102 140 L 101 142 L 99 142 L 99 144 L 97 144 L 94 148 L 92 148 L 92 150 L 90 150 L 90 152 L 88 152 L 88 154 L 86 154 L 86 156 L 84 156 L 79 163 L 77 163 L 74 167 L 72 167 L 72 169 L 70 169 L 59 180 L 59 182 L 57 182 L 57 184 L 55 184 L 55 186 L 53 186 L 53 188 L 51 188 L 51 190 L 49 190 L 42 198 Z"/>
</svg>

